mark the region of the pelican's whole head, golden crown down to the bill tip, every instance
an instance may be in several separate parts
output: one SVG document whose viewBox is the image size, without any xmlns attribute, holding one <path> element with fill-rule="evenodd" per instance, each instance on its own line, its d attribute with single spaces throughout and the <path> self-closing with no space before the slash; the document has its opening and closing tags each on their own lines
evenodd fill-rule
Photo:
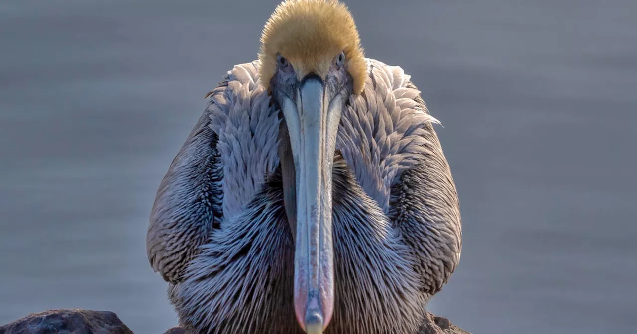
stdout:
<svg viewBox="0 0 637 334">
<path fill-rule="evenodd" d="M 283 186 L 292 193 L 285 209 L 295 242 L 294 309 L 307 333 L 322 333 L 334 309 L 336 134 L 350 95 L 362 92 L 366 62 L 354 19 L 338 1 L 281 3 L 261 43 L 261 84 L 282 110 L 291 150 L 281 165 L 293 175 Z"/>
</svg>

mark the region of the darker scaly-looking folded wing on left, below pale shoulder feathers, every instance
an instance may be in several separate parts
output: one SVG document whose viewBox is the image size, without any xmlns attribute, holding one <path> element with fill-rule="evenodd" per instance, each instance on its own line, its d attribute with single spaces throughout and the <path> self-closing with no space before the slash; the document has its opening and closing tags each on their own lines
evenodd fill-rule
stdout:
<svg viewBox="0 0 637 334">
<path fill-rule="evenodd" d="M 223 169 L 218 136 L 204 113 L 170 165 L 150 214 L 146 250 L 150 265 L 168 282 L 179 282 L 197 246 L 222 217 Z"/>
</svg>

